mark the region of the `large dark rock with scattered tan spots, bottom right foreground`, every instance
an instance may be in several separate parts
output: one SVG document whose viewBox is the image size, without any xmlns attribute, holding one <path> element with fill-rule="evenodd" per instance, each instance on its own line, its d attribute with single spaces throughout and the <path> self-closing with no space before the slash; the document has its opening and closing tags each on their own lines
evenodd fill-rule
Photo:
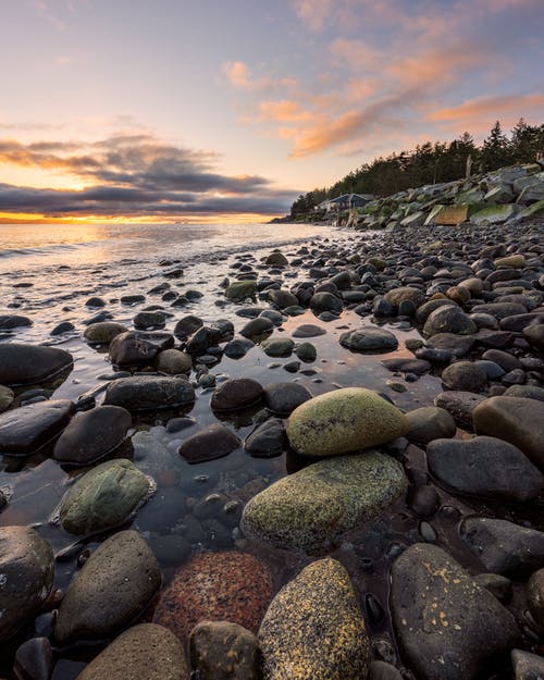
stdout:
<svg viewBox="0 0 544 680">
<path fill-rule="evenodd" d="M 418 543 L 392 569 L 393 623 L 421 680 L 473 680 L 520 638 L 514 616 L 445 551 Z"/>
</svg>

